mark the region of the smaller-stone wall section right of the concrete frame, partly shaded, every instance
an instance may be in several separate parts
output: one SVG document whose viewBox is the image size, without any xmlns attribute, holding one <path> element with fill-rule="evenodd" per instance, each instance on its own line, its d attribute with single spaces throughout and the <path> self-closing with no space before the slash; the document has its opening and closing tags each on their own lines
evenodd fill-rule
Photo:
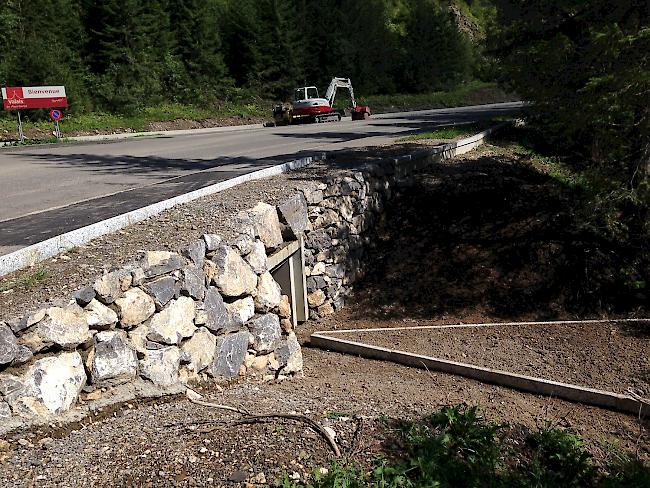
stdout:
<svg viewBox="0 0 650 488">
<path fill-rule="evenodd" d="M 384 207 L 396 185 L 408 184 L 432 157 L 426 153 L 367 164 L 303 190 L 310 221 L 304 241 L 310 318 L 331 315 L 345 305 L 364 276 L 365 255 L 385 225 Z"/>
</svg>

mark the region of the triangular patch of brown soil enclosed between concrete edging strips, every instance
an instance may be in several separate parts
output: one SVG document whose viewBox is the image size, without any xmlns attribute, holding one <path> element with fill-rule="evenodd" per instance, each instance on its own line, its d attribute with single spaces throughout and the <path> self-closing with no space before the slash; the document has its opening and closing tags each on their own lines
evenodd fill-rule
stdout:
<svg viewBox="0 0 650 488">
<path fill-rule="evenodd" d="M 650 398 L 650 323 L 509 325 L 345 334 L 345 339 Z"/>
</svg>

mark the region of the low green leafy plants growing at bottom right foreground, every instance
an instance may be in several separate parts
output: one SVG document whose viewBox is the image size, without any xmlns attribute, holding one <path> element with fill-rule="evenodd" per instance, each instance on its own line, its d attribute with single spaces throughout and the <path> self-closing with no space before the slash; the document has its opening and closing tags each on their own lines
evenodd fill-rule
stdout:
<svg viewBox="0 0 650 488">
<path fill-rule="evenodd" d="M 520 433 L 486 421 L 476 407 L 446 407 L 419 421 L 393 424 L 399 460 L 377 458 L 370 470 L 333 463 L 326 475 L 315 473 L 309 486 L 641 488 L 650 483 L 650 467 L 633 456 L 612 450 L 596 463 L 571 430 L 547 425 Z"/>
</svg>

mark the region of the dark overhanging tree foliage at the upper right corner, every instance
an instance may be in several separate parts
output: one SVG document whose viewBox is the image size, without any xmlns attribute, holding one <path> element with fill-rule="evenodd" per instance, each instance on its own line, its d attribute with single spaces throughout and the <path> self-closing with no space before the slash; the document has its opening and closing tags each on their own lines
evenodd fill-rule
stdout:
<svg viewBox="0 0 650 488">
<path fill-rule="evenodd" d="M 533 102 L 537 150 L 580 172 L 609 235 L 650 237 L 650 2 L 494 0 L 502 81 Z M 529 141 L 530 142 L 530 141 Z"/>
</svg>

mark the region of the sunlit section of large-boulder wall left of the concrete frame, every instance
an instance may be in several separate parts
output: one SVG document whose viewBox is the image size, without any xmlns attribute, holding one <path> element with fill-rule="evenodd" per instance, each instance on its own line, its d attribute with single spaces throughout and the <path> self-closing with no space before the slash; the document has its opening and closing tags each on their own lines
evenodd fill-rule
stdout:
<svg viewBox="0 0 650 488">
<path fill-rule="evenodd" d="M 258 203 L 180 252 L 142 252 L 67 302 L 0 322 L 0 422 L 52 417 L 125 384 L 161 392 L 209 378 L 302 370 L 288 297 L 267 258 L 301 238 L 307 204 Z"/>
</svg>

